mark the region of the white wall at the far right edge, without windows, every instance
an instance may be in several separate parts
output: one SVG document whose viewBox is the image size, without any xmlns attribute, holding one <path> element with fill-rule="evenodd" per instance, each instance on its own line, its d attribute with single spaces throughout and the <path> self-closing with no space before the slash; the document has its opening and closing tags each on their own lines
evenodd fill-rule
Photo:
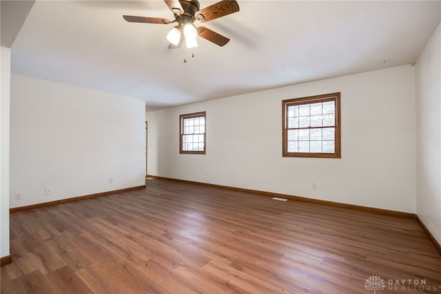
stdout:
<svg viewBox="0 0 441 294">
<path fill-rule="evenodd" d="M 416 63 L 417 214 L 441 244 L 441 24 Z"/>
</svg>

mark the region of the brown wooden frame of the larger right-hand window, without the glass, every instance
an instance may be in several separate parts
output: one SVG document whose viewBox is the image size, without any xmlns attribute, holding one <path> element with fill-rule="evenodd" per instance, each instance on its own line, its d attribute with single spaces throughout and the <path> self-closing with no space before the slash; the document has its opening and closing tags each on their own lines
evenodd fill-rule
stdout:
<svg viewBox="0 0 441 294">
<path fill-rule="evenodd" d="M 334 153 L 302 153 L 288 152 L 288 107 L 305 104 L 315 104 L 320 102 L 334 101 L 336 105 L 335 132 L 334 132 Z M 282 131 L 283 131 L 283 157 L 316 157 L 316 158 L 341 158 L 341 111 L 340 111 L 340 92 L 316 95 L 309 97 L 301 97 L 295 99 L 287 99 L 282 101 Z M 311 126 L 308 127 L 311 129 Z M 326 128 L 313 127 L 313 128 Z M 307 129 L 307 128 L 290 128 L 290 129 Z"/>
</svg>

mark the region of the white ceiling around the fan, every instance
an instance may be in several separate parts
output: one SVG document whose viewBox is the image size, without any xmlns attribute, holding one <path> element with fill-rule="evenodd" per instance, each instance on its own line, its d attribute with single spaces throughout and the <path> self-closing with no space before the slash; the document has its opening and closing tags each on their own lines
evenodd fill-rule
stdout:
<svg viewBox="0 0 441 294">
<path fill-rule="evenodd" d="M 37 0 L 12 45 L 12 72 L 144 99 L 154 110 L 410 64 L 441 19 L 441 1 L 238 3 L 239 12 L 203 23 L 227 45 L 198 38 L 194 50 L 172 50 L 173 25 L 122 17 L 173 19 L 163 1 Z"/>
</svg>

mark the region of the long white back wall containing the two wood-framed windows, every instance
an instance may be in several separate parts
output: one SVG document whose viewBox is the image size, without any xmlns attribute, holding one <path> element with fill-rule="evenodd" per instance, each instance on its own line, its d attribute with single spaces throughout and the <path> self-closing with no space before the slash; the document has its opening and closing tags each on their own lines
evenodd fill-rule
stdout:
<svg viewBox="0 0 441 294">
<path fill-rule="evenodd" d="M 148 173 L 415 213 L 414 81 L 409 65 L 147 112 Z M 341 92 L 342 158 L 282 157 L 282 100 L 330 92 Z M 180 155 L 178 117 L 198 111 L 207 154 Z"/>
</svg>

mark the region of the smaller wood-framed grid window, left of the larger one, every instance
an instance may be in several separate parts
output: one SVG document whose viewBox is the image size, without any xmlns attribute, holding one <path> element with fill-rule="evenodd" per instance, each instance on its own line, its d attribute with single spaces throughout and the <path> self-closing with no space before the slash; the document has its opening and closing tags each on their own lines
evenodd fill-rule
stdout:
<svg viewBox="0 0 441 294">
<path fill-rule="evenodd" d="M 179 153 L 205 154 L 205 111 L 179 116 Z"/>
</svg>

